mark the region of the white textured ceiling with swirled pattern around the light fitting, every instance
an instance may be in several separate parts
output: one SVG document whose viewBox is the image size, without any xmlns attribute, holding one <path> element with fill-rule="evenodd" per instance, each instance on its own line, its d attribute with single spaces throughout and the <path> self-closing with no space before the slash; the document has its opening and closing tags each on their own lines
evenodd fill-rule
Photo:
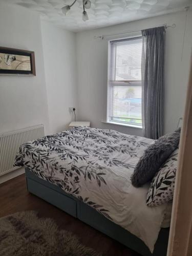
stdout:
<svg viewBox="0 0 192 256">
<path fill-rule="evenodd" d="M 179 11 L 191 4 L 191 0 L 91 0 L 91 9 L 87 9 L 89 20 L 83 22 L 82 0 L 77 0 L 67 16 L 61 8 L 71 5 L 74 0 L 3 1 L 37 11 L 42 20 L 74 32 Z"/>
</svg>

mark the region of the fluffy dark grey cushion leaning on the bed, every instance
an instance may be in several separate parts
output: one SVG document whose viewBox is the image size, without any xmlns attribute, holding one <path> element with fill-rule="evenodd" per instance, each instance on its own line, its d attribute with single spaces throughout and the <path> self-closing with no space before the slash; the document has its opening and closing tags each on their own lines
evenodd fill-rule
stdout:
<svg viewBox="0 0 192 256">
<path fill-rule="evenodd" d="M 147 147 L 143 156 L 139 159 L 131 181 L 134 187 L 141 187 L 151 181 L 161 165 L 176 150 L 181 129 L 160 137 L 154 144 Z"/>
</svg>

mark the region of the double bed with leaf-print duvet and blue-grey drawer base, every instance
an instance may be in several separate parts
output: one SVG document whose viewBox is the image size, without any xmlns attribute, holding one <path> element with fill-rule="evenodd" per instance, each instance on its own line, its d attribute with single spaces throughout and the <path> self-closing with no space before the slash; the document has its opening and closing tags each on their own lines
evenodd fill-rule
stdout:
<svg viewBox="0 0 192 256">
<path fill-rule="evenodd" d="M 30 193 L 116 239 L 143 256 L 166 255 L 168 205 L 146 206 L 149 184 L 131 175 L 154 141 L 112 130 L 75 127 L 20 146 Z"/>
</svg>

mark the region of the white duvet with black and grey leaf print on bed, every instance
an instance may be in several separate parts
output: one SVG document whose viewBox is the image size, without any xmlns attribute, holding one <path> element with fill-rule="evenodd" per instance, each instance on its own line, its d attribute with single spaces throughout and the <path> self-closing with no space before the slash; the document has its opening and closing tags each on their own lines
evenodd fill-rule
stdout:
<svg viewBox="0 0 192 256">
<path fill-rule="evenodd" d="M 112 130 L 75 127 L 21 145 L 15 165 L 29 168 L 89 204 L 153 251 L 165 205 L 146 206 L 148 184 L 135 188 L 130 181 L 151 143 Z"/>
</svg>

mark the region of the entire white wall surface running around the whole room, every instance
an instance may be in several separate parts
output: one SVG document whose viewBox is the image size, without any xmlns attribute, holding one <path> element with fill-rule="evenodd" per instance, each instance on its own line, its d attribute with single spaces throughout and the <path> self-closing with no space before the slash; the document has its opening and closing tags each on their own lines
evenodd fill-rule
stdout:
<svg viewBox="0 0 192 256">
<path fill-rule="evenodd" d="M 78 119 L 90 120 L 94 127 L 142 135 L 140 129 L 101 123 L 106 119 L 108 40 L 96 40 L 94 35 L 135 31 L 164 23 L 176 24 L 175 29 L 167 29 L 165 47 L 164 130 L 165 133 L 174 130 L 184 110 L 191 11 L 181 62 L 184 21 L 185 13 L 178 12 L 76 35 L 51 23 L 40 24 L 38 14 L 26 8 L 0 4 L 0 45 L 35 51 L 36 60 L 36 77 L 0 76 L 0 133 L 39 123 L 45 124 L 46 133 L 64 130 L 72 120 L 69 106 L 77 106 Z"/>
</svg>

